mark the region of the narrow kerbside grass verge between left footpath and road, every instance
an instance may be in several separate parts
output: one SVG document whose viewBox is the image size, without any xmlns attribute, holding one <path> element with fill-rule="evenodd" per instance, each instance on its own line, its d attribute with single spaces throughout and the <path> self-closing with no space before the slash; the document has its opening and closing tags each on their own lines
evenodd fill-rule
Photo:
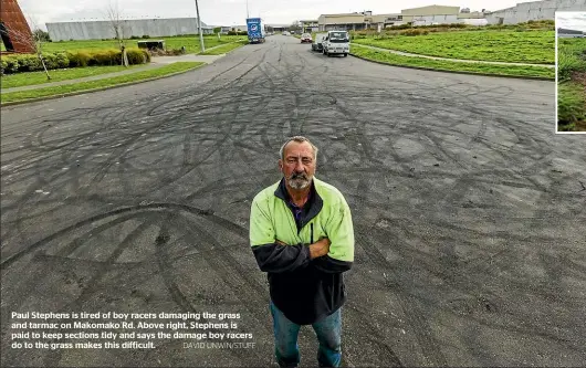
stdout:
<svg viewBox="0 0 586 368">
<path fill-rule="evenodd" d="M 11 92 L 4 93 L 1 95 L 2 104 L 9 102 L 25 101 L 31 98 L 48 97 L 48 96 L 59 96 L 62 94 L 67 94 L 72 92 L 80 92 L 86 90 L 94 90 L 101 87 L 115 86 L 123 83 L 136 82 L 140 80 L 148 80 L 157 76 L 165 76 L 168 74 L 188 71 L 195 67 L 198 67 L 205 63 L 198 62 L 177 62 L 168 64 L 158 69 L 136 72 L 133 74 L 115 76 L 111 78 L 82 82 L 75 84 L 61 85 L 55 87 L 39 88 L 32 91 L 22 91 L 22 92 Z"/>
</svg>

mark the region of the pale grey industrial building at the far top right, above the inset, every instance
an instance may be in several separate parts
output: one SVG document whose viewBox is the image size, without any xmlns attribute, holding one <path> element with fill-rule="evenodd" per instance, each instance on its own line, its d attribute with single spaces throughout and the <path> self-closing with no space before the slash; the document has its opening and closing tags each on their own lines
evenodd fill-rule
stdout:
<svg viewBox="0 0 586 368">
<path fill-rule="evenodd" d="M 556 11 L 586 11 L 586 0 L 543 0 L 521 2 L 486 14 L 489 24 L 516 24 L 530 20 L 555 20 Z"/>
</svg>

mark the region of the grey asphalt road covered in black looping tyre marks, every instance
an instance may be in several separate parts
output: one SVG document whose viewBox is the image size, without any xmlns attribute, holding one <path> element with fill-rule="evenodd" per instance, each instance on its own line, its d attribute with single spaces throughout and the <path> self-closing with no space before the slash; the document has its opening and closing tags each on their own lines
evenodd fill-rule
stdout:
<svg viewBox="0 0 586 368">
<path fill-rule="evenodd" d="M 353 211 L 346 365 L 586 361 L 586 137 L 554 134 L 554 83 L 326 57 L 272 36 L 1 118 L 2 366 L 273 365 L 248 217 L 297 134 Z M 240 341 L 255 346 L 12 349 L 10 314 L 33 311 L 240 313 L 237 330 L 253 335 Z"/>
</svg>

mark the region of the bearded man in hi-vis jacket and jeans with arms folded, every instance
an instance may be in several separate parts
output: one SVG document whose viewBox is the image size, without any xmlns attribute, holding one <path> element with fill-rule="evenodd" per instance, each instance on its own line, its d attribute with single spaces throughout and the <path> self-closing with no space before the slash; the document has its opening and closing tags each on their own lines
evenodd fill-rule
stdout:
<svg viewBox="0 0 586 368">
<path fill-rule="evenodd" d="M 312 325 L 317 362 L 338 367 L 343 272 L 354 262 L 350 210 L 336 188 L 314 177 L 317 148 L 307 138 L 290 138 L 280 155 L 283 178 L 254 197 L 250 213 L 252 251 L 269 277 L 276 361 L 297 366 L 300 328 Z"/>
</svg>

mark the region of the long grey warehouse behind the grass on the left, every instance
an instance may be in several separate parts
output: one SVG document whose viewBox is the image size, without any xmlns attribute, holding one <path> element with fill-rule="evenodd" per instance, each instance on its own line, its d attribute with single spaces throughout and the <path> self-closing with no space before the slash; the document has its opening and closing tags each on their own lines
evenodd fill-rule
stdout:
<svg viewBox="0 0 586 368">
<path fill-rule="evenodd" d="M 121 21 L 125 39 L 130 36 L 168 36 L 198 34 L 197 18 L 132 19 Z M 46 23 L 52 41 L 114 39 L 109 21 L 80 21 Z M 201 33 L 213 33 L 213 29 L 201 22 Z"/>
</svg>

